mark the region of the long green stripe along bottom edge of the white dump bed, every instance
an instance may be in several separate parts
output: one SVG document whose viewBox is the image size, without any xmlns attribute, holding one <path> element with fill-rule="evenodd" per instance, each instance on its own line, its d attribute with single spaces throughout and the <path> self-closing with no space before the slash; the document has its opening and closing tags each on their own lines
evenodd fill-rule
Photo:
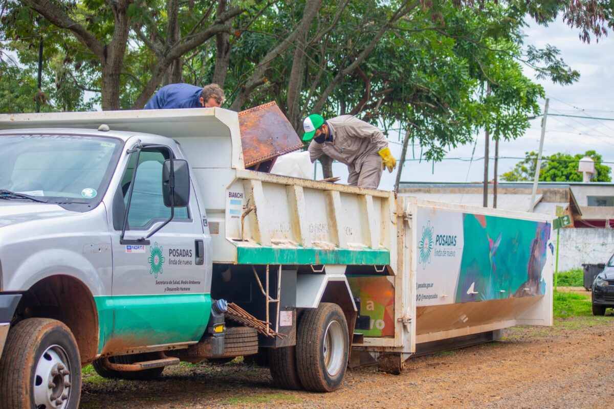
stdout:
<svg viewBox="0 0 614 409">
<path fill-rule="evenodd" d="M 336 248 L 273 248 L 237 246 L 238 264 L 348 264 L 354 266 L 388 266 L 388 250 L 351 250 Z"/>
</svg>

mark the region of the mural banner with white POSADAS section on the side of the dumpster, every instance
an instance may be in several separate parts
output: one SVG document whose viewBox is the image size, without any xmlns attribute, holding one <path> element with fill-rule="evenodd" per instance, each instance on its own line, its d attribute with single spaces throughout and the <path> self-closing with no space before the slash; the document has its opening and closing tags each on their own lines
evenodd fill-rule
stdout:
<svg viewBox="0 0 614 409">
<path fill-rule="evenodd" d="M 550 223 L 419 208 L 418 306 L 538 296 Z M 422 224 L 422 226 L 420 226 Z M 422 253 L 421 253 L 422 252 Z"/>
</svg>

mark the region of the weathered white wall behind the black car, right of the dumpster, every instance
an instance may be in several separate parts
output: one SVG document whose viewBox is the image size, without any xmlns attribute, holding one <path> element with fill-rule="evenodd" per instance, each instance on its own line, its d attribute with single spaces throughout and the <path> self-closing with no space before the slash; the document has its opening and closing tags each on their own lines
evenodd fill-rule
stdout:
<svg viewBox="0 0 614 409">
<path fill-rule="evenodd" d="M 553 233 L 556 246 L 556 230 Z M 614 229 L 561 229 L 559 246 L 559 271 L 607 262 L 614 253 Z"/>
</svg>

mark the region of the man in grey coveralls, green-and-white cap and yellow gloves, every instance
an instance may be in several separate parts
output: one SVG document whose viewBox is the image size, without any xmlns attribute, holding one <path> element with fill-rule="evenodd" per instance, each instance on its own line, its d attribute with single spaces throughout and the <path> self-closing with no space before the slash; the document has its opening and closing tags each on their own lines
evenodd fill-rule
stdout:
<svg viewBox="0 0 614 409">
<path fill-rule="evenodd" d="M 326 154 L 348 166 L 348 185 L 377 189 L 382 170 L 397 166 L 384 134 L 352 115 L 341 115 L 325 121 L 314 113 L 303 121 L 303 141 L 309 143 L 309 158 L 315 162 Z"/>
</svg>

